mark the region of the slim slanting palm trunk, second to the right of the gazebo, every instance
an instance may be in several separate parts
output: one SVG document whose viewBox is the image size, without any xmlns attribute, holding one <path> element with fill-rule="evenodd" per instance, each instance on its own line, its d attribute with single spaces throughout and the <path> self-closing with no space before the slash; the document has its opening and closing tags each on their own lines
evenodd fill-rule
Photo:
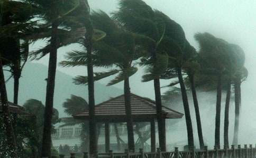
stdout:
<svg viewBox="0 0 256 158">
<path fill-rule="evenodd" d="M 200 149 L 204 149 L 204 138 L 203 138 L 202 124 L 201 124 L 199 106 L 198 106 L 197 95 L 196 95 L 194 74 L 189 74 L 189 80 L 190 80 L 191 92 L 193 95 L 193 101 L 194 101 L 195 112 L 196 112 L 197 133 L 199 138 Z"/>
</svg>

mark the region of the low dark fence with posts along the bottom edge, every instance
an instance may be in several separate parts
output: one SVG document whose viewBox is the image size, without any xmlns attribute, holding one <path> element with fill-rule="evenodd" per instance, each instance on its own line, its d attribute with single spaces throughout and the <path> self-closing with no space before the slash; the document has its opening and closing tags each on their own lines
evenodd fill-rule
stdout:
<svg viewBox="0 0 256 158">
<path fill-rule="evenodd" d="M 82 157 L 76 156 L 76 153 L 71 153 L 70 158 L 256 158 L 256 145 L 244 145 L 241 148 L 241 145 L 237 145 L 235 148 L 232 145 L 231 149 L 218 149 L 215 147 L 214 150 L 208 150 L 205 146 L 204 150 L 192 150 L 192 151 L 179 151 L 178 147 L 175 147 L 173 152 L 161 152 L 160 149 L 157 149 L 157 152 L 143 152 L 143 149 L 140 149 L 140 152 L 134 153 L 125 150 L 124 153 L 113 153 L 109 151 L 108 153 L 95 153 L 94 155 L 88 155 L 84 153 Z M 53 156 L 64 158 L 64 155 Z M 66 156 L 67 157 L 67 156 Z"/>
</svg>

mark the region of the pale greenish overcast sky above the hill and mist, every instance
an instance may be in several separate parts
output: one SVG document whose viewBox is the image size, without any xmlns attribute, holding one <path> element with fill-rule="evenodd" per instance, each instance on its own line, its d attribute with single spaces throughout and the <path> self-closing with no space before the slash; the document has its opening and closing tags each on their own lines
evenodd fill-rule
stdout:
<svg viewBox="0 0 256 158">
<path fill-rule="evenodd" d="M 167 14 L 171 19 L 179 23 L 186 33 L 186 37 L 191 45 L 198 48 L 194 40 L 194 34 L 197 32 L 209 32 L 217 37 L 223 38 L 227 42 L 240 45 L 246 54 L 246 67 L 249 70 L 249 78 L 246 83 L 253 81 L 255 77 L 254 66 L 256 63 L 254 51 L 256 50 L 256 1 L 246 0 L 146 0 L 152 8 L 158 9 Z M 117 9 L 116 0 L 89 0 L 92 9 L 102 9 L 107 13 Z M 42 43 L 35 44 L 39 46 Z M 59 49 L 58 60 L 62 61 L 65 52 L 75 50 L 78 45 L 70 45 Z M 39 63 L 48 64 L 48 56 L 44 57 Z M 86 74 L 85 67 L 62 68 L 58 70 L 69 75 L 84 75 Z M 96 69 L 100 71 L 100 69 Z M 141 83 L 140 70 L 138 74 L 131 77 L 131 91 L 133 93 L 153 97 L 152 83 Z M 107 83 L 110 79 L 101 81 Z M 245 84 L 246 84 L 245 83 Z M 162 81 L 162 84 L 168 84 L 167 81 Z M 250 83 L 252 84 L 252 82 Z M 253 87 L 254 87 L 253 83 Z M 115 85 L 122 88 L 122 83 Z M 249 86 L 251 87 L 251 86 Z M 163 89 L 162 92 L 165 90 Z"/>
</svg>

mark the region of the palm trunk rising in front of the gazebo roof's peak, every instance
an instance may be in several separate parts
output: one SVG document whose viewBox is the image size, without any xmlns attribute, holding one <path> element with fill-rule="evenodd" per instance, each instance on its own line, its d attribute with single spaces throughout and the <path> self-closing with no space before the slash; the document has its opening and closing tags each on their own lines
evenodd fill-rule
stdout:
<svg viewBox="0 0 256 158">
<path fill-rule="evenodd" d="M 129 76 L 127 72 L 125 72 L 126 68 L 124 68 L 124 104 L 125 104 L 125 113 L 127 119 L 127 135 L 128 135 L 128 148 L 131 151 L 135 151 L 134 145 L 134 133 L 133 133 L 133 121 L 132 121 L 132 107 L 131 107 L 131 92 L 130 92 L 130 83 Z"/>
</svg>

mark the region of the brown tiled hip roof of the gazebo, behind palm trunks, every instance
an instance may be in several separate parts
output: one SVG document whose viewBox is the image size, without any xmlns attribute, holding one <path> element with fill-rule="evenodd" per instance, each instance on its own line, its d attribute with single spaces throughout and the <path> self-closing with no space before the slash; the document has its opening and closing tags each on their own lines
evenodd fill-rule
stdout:
<svg viewBox="0 0 256 158">
<path fill-rule="evenodd" d="M 131 93 L 132 117 L 135 120 L 157 118 L 156 103 L 149 98 Z M 163 118 L 181 118 L 184 114 L 162 106 Z M 124 95 L 111 98 L 95 106 L 95 115 L 98 120 L 120 121 L 125 118 Z M 89 111 L 73 115 L 75 118 L 88 119 Z M 118 118 L 118 120 L 117 120 Z"/>
</svg>

